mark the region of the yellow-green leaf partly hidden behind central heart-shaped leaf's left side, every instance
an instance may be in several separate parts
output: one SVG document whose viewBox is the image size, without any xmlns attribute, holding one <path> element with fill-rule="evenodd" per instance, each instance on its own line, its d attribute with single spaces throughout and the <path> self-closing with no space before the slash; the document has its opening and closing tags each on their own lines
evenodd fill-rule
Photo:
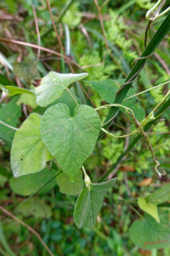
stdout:
<svg viewBox="0 0 170 256">
<path fill-rule="evenodd" d="M 16 131 L 11 149 L 11 166 L 14 177 L 39 172 L 53 156 L 40 135 L 41 116 L 33 113 Z"/>
</svg>

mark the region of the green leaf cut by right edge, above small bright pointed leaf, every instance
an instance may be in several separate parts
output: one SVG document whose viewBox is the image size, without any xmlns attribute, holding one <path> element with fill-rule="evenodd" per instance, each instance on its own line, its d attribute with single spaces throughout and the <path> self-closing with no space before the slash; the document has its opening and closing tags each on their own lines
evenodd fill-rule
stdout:
<svg viewBox="0 0 170 256">
<path fill-rule="evenodd" d="M 170 200 L 170 183 L 162 186 L 162 188 L 158 188 L 146 198 L 147 202 L 156 205 L 162 204 L 168 200 Z"/>
</svg>

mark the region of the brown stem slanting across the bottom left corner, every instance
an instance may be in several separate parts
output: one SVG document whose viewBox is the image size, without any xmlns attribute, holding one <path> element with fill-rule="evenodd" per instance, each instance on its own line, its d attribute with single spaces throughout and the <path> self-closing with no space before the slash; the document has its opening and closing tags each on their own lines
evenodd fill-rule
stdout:
<svg viewBox="0 0 170 256">
<path fill-rule="evenodd" d="M 20 223 L 23 227 L 27 228 L 27 230 L 29 230 L 29 232 L 31 232 L 32 234 L 34 234 L 34 236 L 37 237 L 37 239 L 39 240 L 39 242 L 42 244 L 42 246 L 45 248 L 45 250 L 49 253 L 49 255 L 51 256 L 55 256 L 53 254 L 53 252 L 51 252 L 51 250 L 49 249 L 49 247 L 47 246 L 47 244 L 45 244 L 45 242 L 43 241 L 43 239 L 41 238 L 41 236 L 33 229 L 31 228 L 29 225 L 27 225 L 26 223 L 24 223 L 22 220 L 18 219 L 16 216 L 14 216 L 13 214 L 11 214 L 10 212 L 8 212 L 6 209 L 4 209 L 2 206 L 0 206 L 0 210 L 2 212 L 4 212 L 6 215 L 10 216 L 10 218 L 12 218 L 13 220 L 16 220 L 18 223 Z"/>
</svg>

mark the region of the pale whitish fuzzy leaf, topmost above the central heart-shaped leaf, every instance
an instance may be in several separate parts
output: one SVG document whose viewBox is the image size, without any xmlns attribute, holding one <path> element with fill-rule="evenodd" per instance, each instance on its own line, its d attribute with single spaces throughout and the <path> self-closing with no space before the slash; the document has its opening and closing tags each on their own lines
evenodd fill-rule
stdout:
<svg viewBox="0 0 170 256">
<path fill-rule="evenodd" d="M 60 74 L 53 71 L 49 72 L 49 74 L 41 79 L 40 85 L 35 87 L 37 104 L 41 107 L 49 105 L 58 99 L 70 84 L 86 76 L 88 76 L 88 73 Z"/>
</svg>

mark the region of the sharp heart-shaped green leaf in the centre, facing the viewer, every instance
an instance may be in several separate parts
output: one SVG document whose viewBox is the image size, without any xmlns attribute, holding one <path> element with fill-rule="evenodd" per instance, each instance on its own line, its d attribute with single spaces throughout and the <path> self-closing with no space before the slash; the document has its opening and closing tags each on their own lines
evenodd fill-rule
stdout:
<svg viewBox="0 0 170 256">
<path fill-rule="evenodd" d="M 96 110 L 87 105 L 78 105 L 73 117 L 65 104 L 48 108 L 42 116 L 42 140 L 71 182 L 94 150 L 100 123 Z"/>
</svg>

